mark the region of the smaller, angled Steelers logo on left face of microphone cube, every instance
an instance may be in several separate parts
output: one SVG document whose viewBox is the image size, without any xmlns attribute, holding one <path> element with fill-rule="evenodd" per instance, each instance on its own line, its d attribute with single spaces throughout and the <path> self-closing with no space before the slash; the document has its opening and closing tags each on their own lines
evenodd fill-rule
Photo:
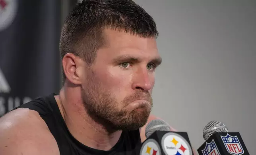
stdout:
<svg viewBox="0 0 256 155">
<path fill-rule="evenodd" d="M 140 155 L 161 155 L 160 146 L 157 141 L 148 139 L 140 149 Z"/>
</svg>

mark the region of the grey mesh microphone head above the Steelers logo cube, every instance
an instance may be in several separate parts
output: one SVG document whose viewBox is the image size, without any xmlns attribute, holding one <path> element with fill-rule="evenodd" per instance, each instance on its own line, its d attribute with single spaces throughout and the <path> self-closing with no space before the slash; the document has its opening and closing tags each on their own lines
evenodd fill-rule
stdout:
<svg viewBox="0 0 256 155">
<path fill-rule="evenodd" d="M 148 138 L 151 134 L 153 134 L 156 130 L 158 131 L 170 131 L 170 126 L 161 119 L 155 119 L 148 123 L 145 129 L 145 136 Z"/>
</svg>

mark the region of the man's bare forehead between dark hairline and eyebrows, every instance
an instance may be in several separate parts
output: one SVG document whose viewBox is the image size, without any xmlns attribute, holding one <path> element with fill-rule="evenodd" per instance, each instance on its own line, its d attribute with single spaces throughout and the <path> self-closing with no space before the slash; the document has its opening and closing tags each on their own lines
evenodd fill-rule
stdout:
<svg viewBox="0 0 256 155">
<path fill-rule="evenodd" d="M 144 38 L 122 30 L 105 29 L 104 39 L 105 49 L 109 49 L 107 53 L 104 53 L 108 57 L 120 54 L 133 54 L 137 57 L 159 57 L 154 37 Z"/>
</svg>

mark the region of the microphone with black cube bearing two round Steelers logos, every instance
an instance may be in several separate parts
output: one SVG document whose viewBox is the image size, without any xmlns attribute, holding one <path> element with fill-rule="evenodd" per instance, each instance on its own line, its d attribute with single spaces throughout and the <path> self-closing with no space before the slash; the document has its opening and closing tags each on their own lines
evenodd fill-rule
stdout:
<svg viewBox="0 0 256 155">
<path fill-rule="evenodd" d="M 188 134 L 170 130 L 163 120 L 149 122 L 145 129 L 147 139 L 142 143 L 139 155 L 194 155 Z"/>
</svg>

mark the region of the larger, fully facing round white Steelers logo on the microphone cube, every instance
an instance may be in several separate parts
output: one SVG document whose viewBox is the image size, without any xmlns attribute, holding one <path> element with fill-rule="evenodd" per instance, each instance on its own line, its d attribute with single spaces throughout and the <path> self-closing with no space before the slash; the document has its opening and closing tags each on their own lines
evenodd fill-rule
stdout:
<svg viewBox="0 0 256 155">
<path fill-rule="evenodd" d="M 192 155 L 192 149 L 188 142 L 173 132 L 168 132 L 163 136 L 162 148 L 166 155 Z"/>
</svg>

